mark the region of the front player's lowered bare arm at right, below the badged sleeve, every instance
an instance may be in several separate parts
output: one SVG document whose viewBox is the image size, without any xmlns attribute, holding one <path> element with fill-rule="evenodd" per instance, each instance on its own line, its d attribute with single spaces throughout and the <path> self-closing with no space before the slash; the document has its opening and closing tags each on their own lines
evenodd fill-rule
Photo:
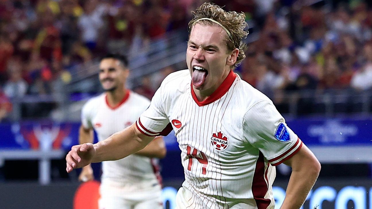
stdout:
<svg viewBox="0 0 372 209">
<path fill-rule="evenodd" d="M 314 186 L 320 172 L 320 163 L 306 145 L 284 162 L 292 167 L 286 196 L 280 209 L 298 209 Z"/>
</svg>

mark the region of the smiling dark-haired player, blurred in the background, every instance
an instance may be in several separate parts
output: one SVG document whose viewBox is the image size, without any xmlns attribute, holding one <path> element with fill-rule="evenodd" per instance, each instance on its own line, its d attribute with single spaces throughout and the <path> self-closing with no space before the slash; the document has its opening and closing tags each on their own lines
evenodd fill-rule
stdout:
<svg viewBox="0 0 372 209">
<path fill-rule="evenodd" d="M 93 129 L 103 141 L 115 132 L 132 125 L 150 105 L 150 101 L 125 88 L 129 75 L 126 57 L 109 54 L 99 65 L 99 80 L 106 91 L 83 106 L 79 142 L 93 143 Z M 116 161 L 102 163 L 100 209 L 161 209 L 161 177 L 157 161 L 166 148 L 162 137 L 144 149 Z M 91 165 L 82 168 L 79 180 L 94 179 Z"/>
</svg>

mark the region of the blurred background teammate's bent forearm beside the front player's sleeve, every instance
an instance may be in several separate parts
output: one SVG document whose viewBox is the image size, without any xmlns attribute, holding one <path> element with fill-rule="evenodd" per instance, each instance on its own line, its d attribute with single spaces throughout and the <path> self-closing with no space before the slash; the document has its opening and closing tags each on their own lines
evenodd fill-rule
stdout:
<svg viewBox="0 0 372 209">
<path fill-rule="evenodd" d="M 136 152 L 136 155 L 141 155 L 145 157 L 155 157 L 164 158 L 167 153 L 163 136 L 158 136 L 154 138 L 145 148 Z"/>
</svg>

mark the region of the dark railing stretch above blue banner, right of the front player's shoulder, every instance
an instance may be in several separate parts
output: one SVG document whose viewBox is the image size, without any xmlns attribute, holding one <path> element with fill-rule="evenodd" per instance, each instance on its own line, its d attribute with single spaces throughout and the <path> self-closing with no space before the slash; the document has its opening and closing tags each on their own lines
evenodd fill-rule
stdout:
<svg viewBox="0 0 372 209">
<path fill-rule="evenodd" d="M 302 90 L 281 92 L 271 98 L 283 115 L 368 115 L 372 113 L 372 90 L 353 89 Z"/>
</svg>

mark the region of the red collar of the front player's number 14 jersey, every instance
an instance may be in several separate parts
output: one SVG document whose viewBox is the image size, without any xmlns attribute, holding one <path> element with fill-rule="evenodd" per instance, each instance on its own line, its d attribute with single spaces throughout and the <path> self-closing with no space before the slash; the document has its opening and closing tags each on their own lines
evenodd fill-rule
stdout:
<svg viewBox="0 0 372 209">
<path fill-rule="evenodd" d="M 204 105 L 209 105 L 210 103 L 215 102 L 216 100 L 224 96 L 224 94 L 230 89 L 232 83 L 234 83 L 235 78 L 236 78 L 235 73 L 232 72 L 232 70 L 230 70 L 230 73 L 227 75 L 224 82 L 222 82 L 222 84 L 209 97 L 207 97 L 205 100 L 201 102 L 199 102 L 198 98 L 196 98 L 196 94 L 191 84 L 192 98 L 194 99 L 196 104 L 199 105 L 199 107 L 204 106 Z"/>
</svg>

